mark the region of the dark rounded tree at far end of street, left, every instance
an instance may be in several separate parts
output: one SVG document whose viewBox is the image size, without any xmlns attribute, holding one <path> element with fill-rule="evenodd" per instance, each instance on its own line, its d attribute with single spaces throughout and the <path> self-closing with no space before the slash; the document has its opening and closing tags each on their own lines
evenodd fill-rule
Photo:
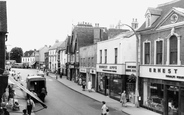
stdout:
<svg viewBox="0 0 184 115">
<path fill-rule="evenodd" d="M 21 57 L 23 56 L 22 48 L 14 47 L 11 49 L 10 59 L 16 60 L 17 63 L 21 63 Z"/>
</svg>

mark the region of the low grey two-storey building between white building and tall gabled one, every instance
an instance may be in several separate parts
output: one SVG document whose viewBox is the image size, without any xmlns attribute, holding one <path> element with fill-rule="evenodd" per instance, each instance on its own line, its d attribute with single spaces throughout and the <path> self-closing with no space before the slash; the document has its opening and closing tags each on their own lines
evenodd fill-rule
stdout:
<svg viewBox="0 0 184 115">
<path fill-rule="evenodd" d="M 96 89 L 96 60 L 97 60 L 97 49 L 96 44 L 90 46 L 84 46 L 79 49 L 79 77 L 86 83 L 91 81 L 92 89 Z M 87 86 L 88 88 L 88 86 Z"/>
</svg>

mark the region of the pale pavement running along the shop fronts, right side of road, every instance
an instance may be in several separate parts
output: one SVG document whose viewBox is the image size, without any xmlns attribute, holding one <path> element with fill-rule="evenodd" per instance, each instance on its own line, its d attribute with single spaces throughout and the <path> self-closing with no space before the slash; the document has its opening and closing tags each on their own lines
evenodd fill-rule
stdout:
<svg viewBox="0 0 184 115">
<path fill-rule="evenodd" d="M 49 73 L 50 77 L 56 78 L 55 74 Z M 115 99 L 112 99 L 108 96 L 102 95 L 98 92 L 89 92 L 89 91 L 82 91 L 82 87 L 80 85 L 78 85 L 77 83 L 75 83 L 74 81 L 70 81 L 68 79 L 66 79 L 66 76 L 63 76 L 62 78 L 57 79 L 59 82 L 61 82 L 62 84 L 64 84 L 65 86 L 69 87 L 70 89 L 83 94 L 93 100 L 96 100 L 98 102 L 102 102 L 105 101 L 106 105 L 108 107 L 111 107 L 113 109 L 116 109 L 118 111 L 122 111 L 123 113 L 127 114 L 127 115 L 161 115 L 159 113 L 156 113 L 154 111 L 139 107 L 137 108 L 135 106 L 135 104 L 132 103 L 127 103 L 126 107 L 122 107 L 121 103 Z"/>
</svg>

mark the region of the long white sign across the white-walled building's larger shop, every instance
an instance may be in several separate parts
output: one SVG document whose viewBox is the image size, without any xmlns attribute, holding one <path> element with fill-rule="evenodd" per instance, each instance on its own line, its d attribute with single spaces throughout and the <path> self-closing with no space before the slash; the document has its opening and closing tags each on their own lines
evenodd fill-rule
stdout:
<svg viewBox="0 0 184 115">
<path fill-rule="evenodd" d="M 97 72 L 125 74 L 125 65 L 97 64 Z"/>
</svg>

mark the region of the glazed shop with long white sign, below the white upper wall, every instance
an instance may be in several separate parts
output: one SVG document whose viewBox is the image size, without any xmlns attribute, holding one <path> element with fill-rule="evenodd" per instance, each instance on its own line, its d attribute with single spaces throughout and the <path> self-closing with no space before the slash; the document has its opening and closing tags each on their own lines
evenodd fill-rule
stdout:
<svg viewBox="0 0 184 115">
<path fill-rule="evenodd" d="M 97 64 L 97 92 L 116 100 L 126 89 L 125 65 Z"/>
</svg>

